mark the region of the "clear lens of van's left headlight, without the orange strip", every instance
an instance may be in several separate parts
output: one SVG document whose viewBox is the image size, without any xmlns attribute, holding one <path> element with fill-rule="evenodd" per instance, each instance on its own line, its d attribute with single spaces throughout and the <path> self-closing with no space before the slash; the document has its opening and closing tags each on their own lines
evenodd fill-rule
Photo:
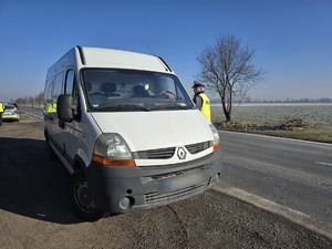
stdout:
<svg viewBox="0 0 332 249">
<path fill-rule="evenodd" d="M 132 153 L 126 142 L 118 134 L 102 134 L 96 139 L 94 155 L 112 158 L 132 158 Z"/>
</svg>

